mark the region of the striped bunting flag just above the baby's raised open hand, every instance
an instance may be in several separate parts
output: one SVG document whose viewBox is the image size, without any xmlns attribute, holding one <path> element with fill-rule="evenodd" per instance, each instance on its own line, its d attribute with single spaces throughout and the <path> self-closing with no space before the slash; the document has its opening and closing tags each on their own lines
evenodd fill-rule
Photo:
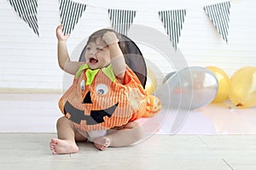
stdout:
<svg viewBox="0 0 256 170">
<path fill-rule="evenodd" d="M 61 25 L 64 35 L 70 34 L 81 18 L 86 4 L 74 3 L 71 0 L 60 0 Z"/>
</svg>

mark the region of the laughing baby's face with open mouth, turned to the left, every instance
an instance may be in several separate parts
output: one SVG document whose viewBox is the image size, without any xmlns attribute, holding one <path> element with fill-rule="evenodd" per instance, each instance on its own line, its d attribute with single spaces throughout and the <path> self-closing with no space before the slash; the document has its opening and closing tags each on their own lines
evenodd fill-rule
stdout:
<svg viewBox="0 0 256 170">
<path fill-rule="evenodd" d="M 89 42 L 85 51 L 85 60 L 90 69 L 99 69 L 110 63 L 109 48 L 102 38 L 96 38 L 95 42 Z"/>
</svg>

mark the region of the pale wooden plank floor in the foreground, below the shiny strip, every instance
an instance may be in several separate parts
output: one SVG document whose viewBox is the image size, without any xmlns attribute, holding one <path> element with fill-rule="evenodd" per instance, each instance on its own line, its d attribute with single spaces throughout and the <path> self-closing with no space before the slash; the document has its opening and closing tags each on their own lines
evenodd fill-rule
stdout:
<svg viewBox="0 0 256 170">
<path fill-rule="evenodd" d="M 256 169 L 254 135 L 153 135 L 136 145 L 99 151 L 80 143 L 72 155 L 51 155 L 55 133 L 0 133 L 1 169 Z"/>
</svg>

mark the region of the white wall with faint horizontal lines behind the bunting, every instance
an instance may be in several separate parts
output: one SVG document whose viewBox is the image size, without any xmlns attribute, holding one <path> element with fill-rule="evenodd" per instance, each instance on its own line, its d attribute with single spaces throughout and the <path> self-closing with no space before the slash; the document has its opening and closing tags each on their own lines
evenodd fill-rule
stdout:
<svg viewBox="0 0 256 170">
<path fill-rule="evenodd" d="M 218 34 L 203 10 L 223 1 L 189 0 L 76 0 L 88 4 L 67 42 L 70 53 L 84 37 L 110 27 L 108 8 L 137 10 L 134 25 L 149 26 L 166 34 L 158 11 L 186 8 L 187 15 L 177 47 L 189 66 L 216 65 L 231 76 L 242 66 L 256 66 L 256 14 L 253 0 L 233 0 L 230 8 L 229 42 Z M 38 89 L 60 92 L 63 72 L 57 65 L 55 27 L 60 23 L 58 0 L 38 1 L 40 37 L 20 19 L 7 0 L 0 0 L 0 89 Z M 131 26 L 132 29 L 132 26 Z M 150 35 L 148 35 L 150 36 Z M 146 59 L 165 74 L 172 71 L 154 48 L 137 44 Z M 162 77 L 161 77 L 162 78 Z M 160 81 L 160 80 L 159 80 Z"/>
</svg>

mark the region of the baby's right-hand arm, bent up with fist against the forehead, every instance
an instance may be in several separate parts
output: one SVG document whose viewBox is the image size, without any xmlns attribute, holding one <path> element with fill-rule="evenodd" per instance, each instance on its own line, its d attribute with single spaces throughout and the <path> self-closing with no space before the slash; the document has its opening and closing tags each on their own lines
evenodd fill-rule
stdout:
<svg viewBox="0 0 256 170">
<path fill-rule="evenodd" d="M 114 32 L 108 31 L 104 34 L 102 40 L 108 44 L 113 72 L 119 78 L 119 81 L 123 82 L 123 78 L 125 77 L 125 58 L 119 48 L 119 39 Z"/>
</svg>

